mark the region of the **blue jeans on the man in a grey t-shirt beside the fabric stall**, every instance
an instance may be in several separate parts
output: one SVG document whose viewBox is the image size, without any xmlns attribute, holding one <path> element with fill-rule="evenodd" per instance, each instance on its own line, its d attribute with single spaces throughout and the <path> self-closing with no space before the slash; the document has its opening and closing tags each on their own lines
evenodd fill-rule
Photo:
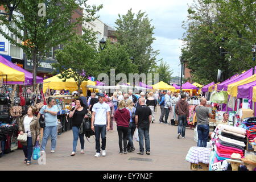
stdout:
<svg viewBox="0 0 256 182">
<path fill-rule="evenodd" d="M 197 147 L 207 147 L 209 130 L 210 130 L 209 125 L 197 125 L 197 133 L 198 133 Z"/>
</svg>

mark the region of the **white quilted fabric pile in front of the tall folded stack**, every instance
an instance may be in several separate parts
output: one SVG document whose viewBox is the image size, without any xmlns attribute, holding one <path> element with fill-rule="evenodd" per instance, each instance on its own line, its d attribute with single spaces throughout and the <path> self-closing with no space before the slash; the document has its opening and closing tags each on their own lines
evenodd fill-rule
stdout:
<svg viewBox="0 0 256 182">
<path fill-rule="evenodd" d="M 191 147 L 189 148 L 186 160 L 191 163 L 209 164 L 210 148 Z"/>
</svg>

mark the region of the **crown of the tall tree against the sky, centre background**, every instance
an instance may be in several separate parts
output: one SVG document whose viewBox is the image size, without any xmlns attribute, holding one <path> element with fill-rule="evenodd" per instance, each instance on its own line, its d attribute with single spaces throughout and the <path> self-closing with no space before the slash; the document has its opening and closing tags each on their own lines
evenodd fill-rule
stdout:
<svg viewBox="0 0 256 182">
<path fill-rule="evenodd" d="M 145 13 L 132 13 L 128 10 L 126 15 L 118 14 L 116 36 L 121 45 L 127 47 L 130 56 L 134 57 L 133 63 L 138 66 L 139 73 L 148 73 L 152 65 L 156 64 L 159 51 L 154 51 L 151 44 L 155 40 L 154 26 Z"/>
</svg>

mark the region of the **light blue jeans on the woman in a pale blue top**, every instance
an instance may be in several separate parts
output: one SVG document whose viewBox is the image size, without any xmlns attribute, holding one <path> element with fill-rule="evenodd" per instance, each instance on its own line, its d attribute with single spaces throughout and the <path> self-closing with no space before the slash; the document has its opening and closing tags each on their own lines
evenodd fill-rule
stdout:
<svg viewBox="0 0 256 182">
<path fill-rule="evenodd" d="M 47 140 L 51 135 L 51 150 L 55 150 L 56 147 L 56 137 L 57 137 L 57 126 L 46 126 L 44 127 L 44 134 L 42 139 L 42 150 L 46 150 Z"/>
</svg>

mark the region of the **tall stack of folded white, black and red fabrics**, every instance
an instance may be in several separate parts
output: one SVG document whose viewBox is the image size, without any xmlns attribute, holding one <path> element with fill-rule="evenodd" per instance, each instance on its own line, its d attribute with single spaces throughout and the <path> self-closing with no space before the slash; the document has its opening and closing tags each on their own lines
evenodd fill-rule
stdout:
<svg viewBox="0 0 256 182">
<path fill-rule="evenodd" d="M 217 139 L 214 145 L 216 160 L 214 163 L 230 159 L 233 153 L 238 153 L 243 158 L 246 146 L 246 130 L 228 125 L 218 125 L 217 128 Z"/>
</svg>

